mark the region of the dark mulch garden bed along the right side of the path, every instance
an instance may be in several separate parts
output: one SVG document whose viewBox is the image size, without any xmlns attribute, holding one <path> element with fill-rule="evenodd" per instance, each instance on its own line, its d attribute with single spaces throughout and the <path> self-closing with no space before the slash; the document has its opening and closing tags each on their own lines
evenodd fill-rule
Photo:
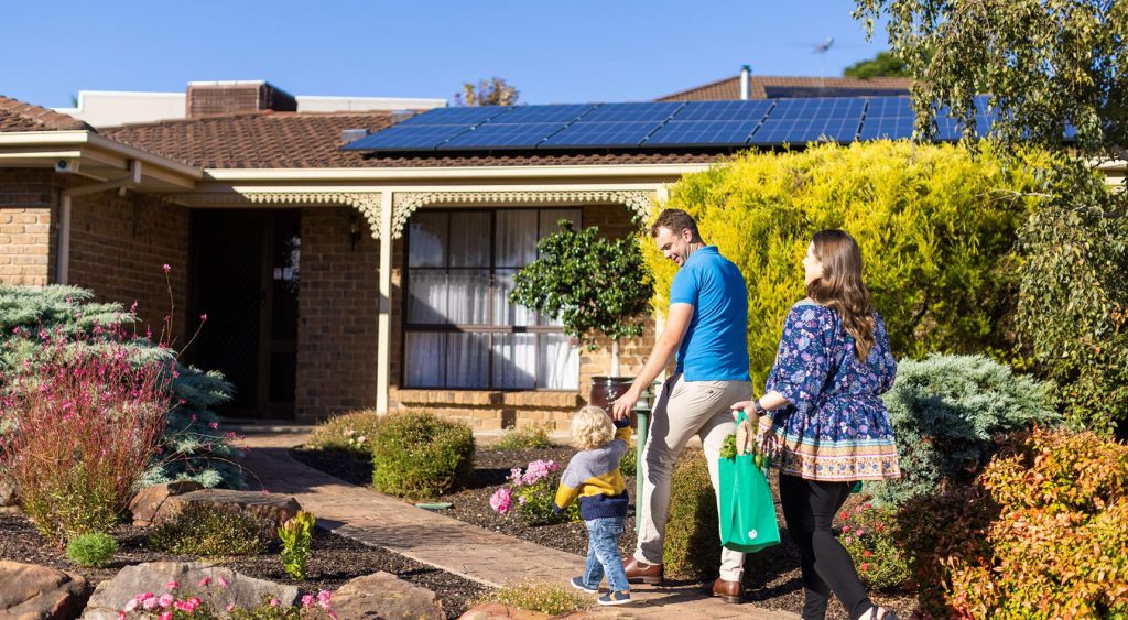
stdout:
<svg viewBox="0 0 1128 620">
<path fill-rule="evenodd" d="M 499 486 L 505 484 L 505 478 L 512 468 L 523 469 L 529 462 L 538 459 L 555 460 L 566 464 L 574 453 L 575 450 L 572 448 L 497 450 L 479 446 L 475 453 L 474 475 L 470 482 L 466 488 L 441 497 L 441 501 L 453 504 L 450 510 L 442 511 L 441 514 L 545 547 L 584 555 L 588 548 L 588 533 L 583 523 L 527 526 L 519 517 L 500 515 L 490 507 L 490 496 Z M 326 453 L 317 450 L 297 449 L 291 451 L 291 454 L 299 461 L 343 480 L 362 486 L 371 484 L 371 463 L 365 459 L 358 459 L 349 452 Z M 772 487 L 773 491 L 777 493 L 774 480 Z M 619 541 L 624 558 L 628 558 L 633 553 L 635 543 L 633 534 L 635 480 L 633 477 L 627 479 L 627 489 L 631 493 L 632 514 L 627 516 L 629 533 Z M 848 502 L 849 505 L 855 503 L 857 503 L 856 496 Z M 799 567 L 799 551 L 787 538 L 782 514 L 779 519 L 783 543 L 750 556 L 746 564 L 744 600 L 760 608 L 800 613 L 803 608 L 803 585 Z M 706 585 L 711 584 L 703 584 L 703 592 Z M 911 595 L 871 593 L 871 599 L 875 603 L 893 609 L 902 618 L 911 617 L 917 608 L 916 600 Z M 846 618 L 845 610 L 837 601 L 831 602 L 828 618 Z"/>
</svg>

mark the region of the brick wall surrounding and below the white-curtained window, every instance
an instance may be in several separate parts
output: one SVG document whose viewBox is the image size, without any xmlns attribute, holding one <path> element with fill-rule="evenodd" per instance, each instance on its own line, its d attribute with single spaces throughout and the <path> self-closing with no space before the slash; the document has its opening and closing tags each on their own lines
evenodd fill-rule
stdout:
<svg viewBox="0 0 1128 620">
<path fill-rule="evenodd" d="M 598 225 L 600 233 L 617 238 L 634 230 L 627 209 L 622 205 L 589 205 L 583 209 L 583 224 Z M 545 426 L 565 431 L 572 414 L 583 405 L 591 390 L 591 378 L 610 374 L 611 345 L 600 339 L 594 352 L 581 352 L 580 389 L 578 391 L 488 391 L 488 390 L 418 390 L 400 389 L 403 361 L 403 310 L 400 283 L 404 266 L 404 243 L 393 248 L 391 302 L 391 395 L 390 406 L 399 409 L 428 409 L 444 417 L 459 419 L 483 429 Z M 646 362 L 654 343 L 654 321 L 646 321 L 646 333 L 619 343 L 620 373 L 634 375 Z"/>
</svg>

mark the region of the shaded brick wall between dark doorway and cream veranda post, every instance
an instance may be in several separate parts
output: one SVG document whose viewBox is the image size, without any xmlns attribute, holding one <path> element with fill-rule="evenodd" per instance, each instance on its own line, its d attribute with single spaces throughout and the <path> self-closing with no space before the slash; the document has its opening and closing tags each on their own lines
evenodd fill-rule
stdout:
<svg viewBox="0 0 1128 620">
<path fill-rule="evenodd" d="M 354 219 L 360 227 L 355 250 L 349 236 Z M 298 422 L 376 405 L 379 247 L 351 207 L 301 212 Z"/>
</svg>

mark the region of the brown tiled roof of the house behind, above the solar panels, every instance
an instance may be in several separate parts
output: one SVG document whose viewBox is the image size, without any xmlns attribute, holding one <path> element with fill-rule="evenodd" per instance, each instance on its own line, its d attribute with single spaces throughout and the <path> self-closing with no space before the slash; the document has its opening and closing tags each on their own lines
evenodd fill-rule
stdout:
<svg viewBox="0 0 1128 620">
<path fill-rule="evenodd" d="M 811 96 L 834 97 L 836 90 L 865 89 L 889 90 L 890 94 L 904 94 L 913 80 L 909 78 L 811 78 L 788 76 L 751 76 L 748 81 L 749 97 L 766 99 L 768 90 L 775 88 L 804 89 Z M 740 76 L 724 78 L 715 82 L 659 97 L 658 101 L 717 101 L 740 98 Z"/>
</svg>

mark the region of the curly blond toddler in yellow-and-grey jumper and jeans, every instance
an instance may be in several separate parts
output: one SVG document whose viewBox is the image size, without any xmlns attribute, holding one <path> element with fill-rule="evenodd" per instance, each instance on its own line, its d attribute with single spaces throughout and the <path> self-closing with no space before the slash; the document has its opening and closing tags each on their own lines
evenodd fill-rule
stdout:
<svg viewBox="0 0 1128 620">
<path fill-rule="evenodd" d="M 613 423 L 599 407 L 584 407 L 572 418 L 572 439 L 580 452 L 572 457 L 561 476 L 554 505 L 561 513 L 579 499 L 580 516 L 588 525 L 588 559 L 583 575 L 572 578 L 572 585 L 597 594 L 606 574 L 609 590 L 599 597 L 599 604 L 629 603 L 631 592 L 618 540 L 623 535 L 628 502 L 619 461 L 627 451 L 631 420 Z"/>
</svg>

